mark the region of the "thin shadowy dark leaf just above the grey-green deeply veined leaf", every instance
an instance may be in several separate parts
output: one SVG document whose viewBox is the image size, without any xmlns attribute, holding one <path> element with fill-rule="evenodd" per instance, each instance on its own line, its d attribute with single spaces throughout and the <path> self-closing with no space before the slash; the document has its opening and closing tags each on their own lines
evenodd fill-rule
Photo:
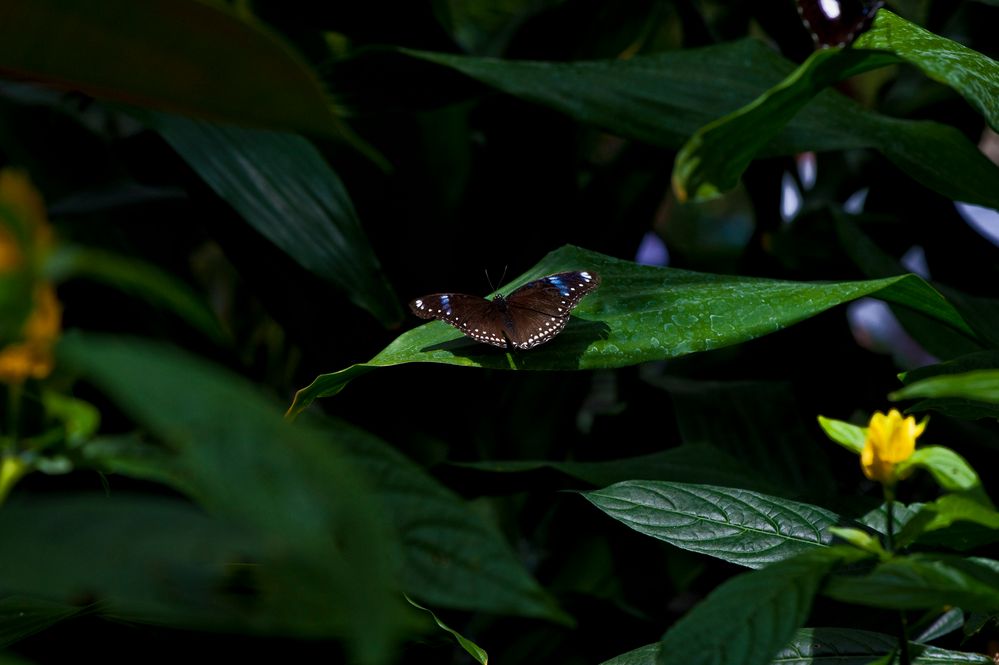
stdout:
<svg viewBox="0 0 999 665">
<path fill-rule="evenodd" d="M 774 489 L 754 477 L 744 464 L 728 453 L 704 444 L 684 444 L 657 453 L 604 462 L 486 460 L 453 465 L 493 473 L 522 473 L 549 468 L 596 487 L 624 480 L 674 480 L 760 491 Z"/>
</svg>

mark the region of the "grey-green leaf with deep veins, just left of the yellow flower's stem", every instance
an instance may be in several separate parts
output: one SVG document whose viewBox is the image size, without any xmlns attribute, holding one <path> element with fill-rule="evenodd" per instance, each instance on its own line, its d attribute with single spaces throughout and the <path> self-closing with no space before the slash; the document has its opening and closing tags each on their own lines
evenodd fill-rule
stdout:
<svg viewBox="0 0 999 665">
<path fill-rule="evenodd" d="M 750 568 L 823 549 L 839 520 L 818 506 L 712 485 L 629 480 L 583 496 L 639 533 Z"/>
</svg>

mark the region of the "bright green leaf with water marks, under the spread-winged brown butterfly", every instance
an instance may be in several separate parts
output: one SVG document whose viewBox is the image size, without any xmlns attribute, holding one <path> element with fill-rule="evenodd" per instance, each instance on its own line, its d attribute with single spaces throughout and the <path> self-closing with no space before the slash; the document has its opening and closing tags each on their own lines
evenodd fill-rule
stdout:
<svg viewBox="0 0 999 665">
<path fill-rule="evenodd" d="M 718 349 L 776 332 L 868 295 L 912 307 L 965 334 L 966 323 L 915 275 L 859 282 L 788 282 L 641 266 L 565 246 L 504 290 L 559 270 L 600 273 L 600 288 L 573 310 L 566 329 L 529 352 L 504 353 L 434 321 L 403 333 L 367 363 L 322 374 L 295 395 L 295 416 L 376 367 L 435 362 L 493 369 L 624 367 Z"/>
</svg>

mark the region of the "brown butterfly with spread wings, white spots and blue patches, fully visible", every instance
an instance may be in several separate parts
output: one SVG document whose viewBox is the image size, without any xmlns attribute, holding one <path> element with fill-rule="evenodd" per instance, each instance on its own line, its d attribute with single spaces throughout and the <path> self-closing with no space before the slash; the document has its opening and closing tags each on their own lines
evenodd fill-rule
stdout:
<svg viewBox="0 0 999 665">
<path fill-rule="evenodd" d="M 421 319 L 438 319 L 472 339 L 502 349 L 531 349 L 562 332 L 569 312 L 600 285 L 592 270 L 548 275 L 492 300 L 464 293 L 434 293 L 409 303 Z"/>
</svg>

